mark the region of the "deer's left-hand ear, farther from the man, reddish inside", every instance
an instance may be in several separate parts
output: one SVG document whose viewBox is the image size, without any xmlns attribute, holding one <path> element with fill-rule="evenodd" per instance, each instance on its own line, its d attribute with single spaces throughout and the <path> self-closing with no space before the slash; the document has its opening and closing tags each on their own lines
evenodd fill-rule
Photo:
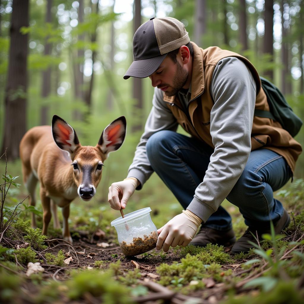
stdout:
<svg viewBox="0 0 304 304">
<path fill-rule="evenodd" d="M 57 146 L 69 153 L 74 153 L 80 145 L 75 130 L 57 115 L 52 119 L 52 134 Z"/>
</svg>

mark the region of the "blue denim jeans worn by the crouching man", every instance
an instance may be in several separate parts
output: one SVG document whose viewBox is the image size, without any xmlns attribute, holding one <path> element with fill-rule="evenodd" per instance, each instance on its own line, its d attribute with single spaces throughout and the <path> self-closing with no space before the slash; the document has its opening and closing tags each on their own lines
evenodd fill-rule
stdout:
<svg viewBox="0 0 304 304">
<path fill-rule="evenodd" d="M 146 147 L 152 168 L 186 209 L 203 181 L 213 149 L 196 138 L 168 130 L 154 133 Z M 251 151 L 227 200 L 240 209 L 247 226 L 269 227 L 270 220 L 275 223 L 284 211 L 273 191 L 290 177 L 291 171 L 281 155 L 268 149 Z M 228 230 L 232 228 L 231 217 L 219 206 L 204 226 Z"/>
</svg>

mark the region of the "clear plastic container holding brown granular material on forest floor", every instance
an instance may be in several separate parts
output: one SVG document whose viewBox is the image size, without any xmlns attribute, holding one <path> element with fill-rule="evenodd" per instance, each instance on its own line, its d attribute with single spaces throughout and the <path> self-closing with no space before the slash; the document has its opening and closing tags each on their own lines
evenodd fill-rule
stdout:
<svg viewBox="0 0 304 304">
<path fill-rule="evenodd" d="M 119 245 L 126 257 L 133 257 L 156 247 L 158 233 L 150 212 L 150 207 L 143 208 L 111 222 L 111 226 L 117 231 Z"/>
</svg>

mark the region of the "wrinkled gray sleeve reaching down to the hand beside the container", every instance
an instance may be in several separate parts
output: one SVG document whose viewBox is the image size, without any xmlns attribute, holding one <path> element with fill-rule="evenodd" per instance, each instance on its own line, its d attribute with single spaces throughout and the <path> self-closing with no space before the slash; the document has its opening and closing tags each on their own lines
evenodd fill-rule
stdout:
<svg viewBox="0 0 304 304">
<path fill-rule="evenodd" d="M 247 66 L 236 57 L 220 60 L 213 73 L 210 134 L 214 152 L 188 210 L 205 223 L 230 193 L 251 151 L 256 84 Z"/>
</svg>

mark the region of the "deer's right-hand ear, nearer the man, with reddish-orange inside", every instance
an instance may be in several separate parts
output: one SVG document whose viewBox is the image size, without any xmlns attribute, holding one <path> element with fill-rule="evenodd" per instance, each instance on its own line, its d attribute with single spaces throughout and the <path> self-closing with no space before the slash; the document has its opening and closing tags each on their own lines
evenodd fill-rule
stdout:
<svg viewBox="0 0 304 304">
<path fill-rule="evenodd" d="M 121 147 L 126 136 L 126 126 L 126 118 L 125 116 L 121 116 L 102 131 L 98 146 L 104 154 L 107 155 Z"/>
</svg>

